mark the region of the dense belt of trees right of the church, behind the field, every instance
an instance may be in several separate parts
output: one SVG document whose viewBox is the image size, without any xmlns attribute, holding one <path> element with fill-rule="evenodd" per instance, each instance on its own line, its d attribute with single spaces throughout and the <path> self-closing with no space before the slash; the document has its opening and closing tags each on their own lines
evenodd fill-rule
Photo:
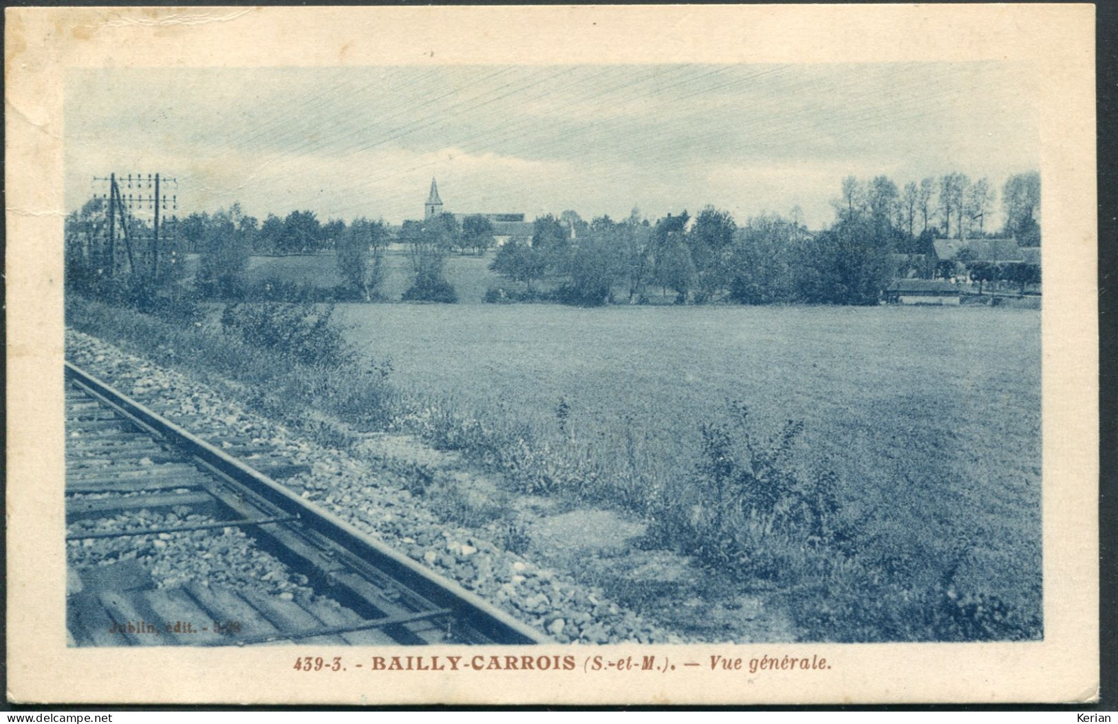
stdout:
<svg viewBox="0 0 1118 724">
<path fill-rule="evenodd" d="M 530 242 L 504 244 L 490 265 L 523 283 L 525 291 L 499 290 L 490 301 L 542 295 L 588 305 L 641 303 L 659 289 L 674 292 L 680 304 L 874 304 L 894 275 L 892 255 L 927 260 L 920 275 L 932 276 L 936 238 L 996 233 L 986 223 L 996 195 L 985 178 L 970 181 L 964 173 L 948 173 L 899 189 L 885 176 L 847 177 L 839 191 L 832 201 L 834 222 L 815 232 L 804 225 L 798 208 L 788 216 L 750 217 L 740 226 L 713 206 L 694 218 L 684 211 L 655 222 L 637 209 L 620 222 L 601 216 L 585 223 L 575 211 L 540 217 Z M 1040 244 L 1038 173 L 1005 182 L 1003 216 L 1002 234 L 1014 236 L 1018 245 Z M 1018 266 L 979 265 L 977 273 L 1002 279 L 996 274 L 1004 272 L 1022 289 L 1039 281 L 1039 270 Z M 953 274 L 955 269 L 951 263 Z M 544 280 L 557 288 L 540 292 Z M 617 299 L 618 289 L 624 299 Z"/>
</svg>

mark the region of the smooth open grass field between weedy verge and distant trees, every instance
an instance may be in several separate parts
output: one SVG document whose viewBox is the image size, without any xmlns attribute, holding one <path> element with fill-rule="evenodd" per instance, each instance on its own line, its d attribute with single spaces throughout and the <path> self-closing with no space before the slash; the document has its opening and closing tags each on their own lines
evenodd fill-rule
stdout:
<svg viewBox="0 0 1118 724">
<path fill-rule="evenodd" d="M 765 430 L 802 420 L 798 457 L 833 469 L 864 545 L 968 552 L 958 580 L 1039 613 L 1040 314 L 988 308 L 339 307 L 397 384 L 558 438 L 556 407 L 601 454 L 632 430 L 685 476 L 723 401 Z"/>
</svg>

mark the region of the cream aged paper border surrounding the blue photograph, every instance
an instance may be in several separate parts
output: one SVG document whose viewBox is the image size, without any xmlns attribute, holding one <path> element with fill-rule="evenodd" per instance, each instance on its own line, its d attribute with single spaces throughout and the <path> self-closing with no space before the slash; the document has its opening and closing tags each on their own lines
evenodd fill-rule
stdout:
<svg viewBox="0 0 1118 724">
<path fill-rule="evenodd" d="M 837 704 L 1097 697 L 1092 6 L 9 8 L 6 18 L 10 701 Z M 523 648 L 512 647 L 67 647 L 61 239 L 70 210 L 63 181 L 68 73 L 975 60 L 1027 68 L 1021 93 L 1034 98 L 1038 111 L 1046 232 L 1042 639 L 544 645 L 531 656 L 537 662 L 546 659 L 546 670 L 540 670 L 542 664 L 509 670 L 506 656 L 525 656 Z M 376 656 L 420 655 L 461 658 L 453 668 L 433 666 L 432 658 L 409 660 L 401 667 L 408 670 L 379 670 L 371 664 Z M 294 670 L 296 656 L 337 656 L 366 665 Z M 680 666 L 633 670 L 616 665 L 644 657 Z M 719 664 L 712 664 L 713 657 Z M 726 659 L 741 662 L 727 669 L 721 666 Z M 761 670 L 756 664 L 761 659 L 809 664 Z M 615 666 L 603 666 L 609 661 Z"/>
</svg>

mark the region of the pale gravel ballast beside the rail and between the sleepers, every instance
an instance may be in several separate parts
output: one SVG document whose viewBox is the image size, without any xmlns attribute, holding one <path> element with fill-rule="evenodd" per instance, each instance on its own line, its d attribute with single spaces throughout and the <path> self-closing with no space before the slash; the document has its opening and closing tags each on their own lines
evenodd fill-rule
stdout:
<svg viewBox="0 0 1118 724">
<path fill-rule="evenodd" d="M 607 600 L 601 590 L 580 584 L 566 572 L 549 570 L 503 549 L 494 543 L 500 539 L 494 525 L 471 529 L 442 520 L 423 493 L 408 490 L 408 480 L 394 469 L 399 468 L 399 461 L 386 460 L 381 454 L 351 454 L 318 445 L 245 410 L 211 385 L 159 367 L 88 335 L 67 330 L 66 345 L 67 358 L 74 364 L 212 444 L 221 446 L 222 439 L 248 439 L 253 444 L 268 448 L 269 462 L 282 460 L 306 466 L 309 472 L 281 482 L 559 642 L 685 640 Z M 376 440 L 377 435 L 370 439 Z M 410 446 L 413 453 L 425 448 L 418 441 Z M 353 449 L 360 451 L 362 445 Z M 253 464 L 252 457 L 245 461 Z M 122 523 L 129 521 L 117 521 L 117 525 Z M 145 525 L 158 525 L 158 521 Z M 237 535 L 217 537 L 221 543 L 214 544 L 216 548 L 201 544 L 202 536 L 169 535 L 167 539 L 150 540 L 151 547 L 145 548 L 150 552 L 144 554 L 150 558 L 145 564 L 157 581 L 169 584 L 179 580 L 177 576 L 233 581 L 228 576 L 241 575 L 229 570 L 229 562 L 222 558 L 220 549 L 220 545 L 239 546 L 235 543 L 239 540 Z M 164 545 L 155 545 L 160 542 Z M 86 546 L 78 542 L 78 545 L 68 546 L 68 551 L 72 562 L 80 566 L 96 565 L 95 558 L 113 557 L 107 544 Z M 259 566 L 248 567 L 244 580 L 253 585 L 263 584 L 273 594 L 297 591 L 299 579 L 290 572 L 275 571 L 273 565 L 260 562 Z"/>
</svg>

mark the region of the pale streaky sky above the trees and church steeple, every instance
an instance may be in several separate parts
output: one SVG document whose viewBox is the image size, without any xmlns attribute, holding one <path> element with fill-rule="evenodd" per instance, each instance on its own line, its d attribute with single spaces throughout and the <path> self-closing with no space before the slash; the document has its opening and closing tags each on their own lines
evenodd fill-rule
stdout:
<svg viewBox="0 0 1118 724">
<path fill-rule="evenodd" d="M 1039 169 L 1030 84 L 999 62 L 76 69 L 66 206 L 107 191 L 94 177 L 159 172 L 180 216 L 237 201 L 398 224 L 436 178 L 448 211 L 799 206 L 817 228 L 845 176 L 1001 189 Z"/>
</svg>

